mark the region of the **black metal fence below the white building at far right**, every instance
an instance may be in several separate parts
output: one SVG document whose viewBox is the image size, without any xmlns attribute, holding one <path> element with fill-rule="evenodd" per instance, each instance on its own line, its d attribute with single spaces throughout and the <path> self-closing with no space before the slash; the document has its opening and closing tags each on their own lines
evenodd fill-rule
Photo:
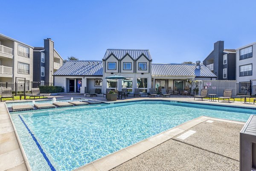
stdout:
<svg viewBox="0 0 256 171">
<path fill-rule="evenodd" d="M 247 95 L 255 97 L 256 95 L 256 85 L 252 85 L 252 82 L 237 83 L 236 84 L 237 95 Z"/>
</svg>

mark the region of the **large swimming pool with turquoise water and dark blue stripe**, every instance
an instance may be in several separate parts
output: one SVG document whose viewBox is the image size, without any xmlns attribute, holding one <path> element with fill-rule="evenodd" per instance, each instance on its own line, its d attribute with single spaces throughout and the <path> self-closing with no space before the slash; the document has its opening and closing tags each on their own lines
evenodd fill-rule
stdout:
<svg viewBox="0 0 256 171">
<path fill-rule="evenodd" d="M 202 115 L 245 122 L 250 114 L 256 110 L 136 101 L 13 112 L 11 116 L 33 171 L 71 171 Z"/>
</svg>

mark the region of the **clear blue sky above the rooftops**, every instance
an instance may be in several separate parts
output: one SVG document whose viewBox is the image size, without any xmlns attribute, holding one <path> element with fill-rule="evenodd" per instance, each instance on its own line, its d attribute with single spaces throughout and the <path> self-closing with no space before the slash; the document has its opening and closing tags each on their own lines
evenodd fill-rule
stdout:
<svg viewBox="0 0 256 171">
<path fill-rule="evenodd" d="M 0 33 L 31 46 L 52 38 L 63 58 L 149 49 L 154 63 L 203 60 L 213 43 L 256 42 L 255 0 L 1 1 Z"/>
</svg>

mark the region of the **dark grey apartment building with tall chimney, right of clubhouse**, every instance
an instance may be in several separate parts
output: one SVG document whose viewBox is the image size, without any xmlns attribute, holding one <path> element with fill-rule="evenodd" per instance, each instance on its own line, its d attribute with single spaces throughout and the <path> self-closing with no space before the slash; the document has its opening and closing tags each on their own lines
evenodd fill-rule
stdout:
<svg viewBox="0 0 256 171">
<path fill-rule="evenodd" d="M 236 49 L 224 49 L 224 41 L 214 43 L 203 64 L 217 76 L 217 80 L 236 80 Z"/>
</svg>

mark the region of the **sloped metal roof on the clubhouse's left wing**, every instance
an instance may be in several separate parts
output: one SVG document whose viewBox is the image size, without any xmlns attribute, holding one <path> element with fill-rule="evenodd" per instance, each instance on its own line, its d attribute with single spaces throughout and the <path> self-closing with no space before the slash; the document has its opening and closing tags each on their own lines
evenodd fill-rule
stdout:
<svg viewBox="0 0 256 171">
<path fill-rule="evenodd" d="M 103 75 L 103 62 L 67 61 L 53 75 Z"/>
</svg>

